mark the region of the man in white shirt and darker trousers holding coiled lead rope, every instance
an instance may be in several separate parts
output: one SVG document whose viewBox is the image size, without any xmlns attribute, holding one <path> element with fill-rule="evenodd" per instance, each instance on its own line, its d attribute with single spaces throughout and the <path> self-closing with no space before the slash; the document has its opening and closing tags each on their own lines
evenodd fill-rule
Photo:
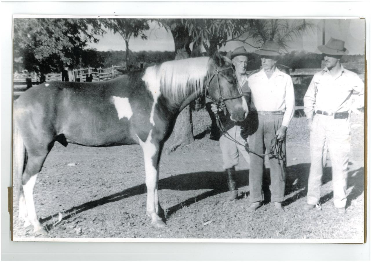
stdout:
<svg viewBox="0 0 371 262">
<path fill-rule="evenodd" d="M 279 45 L 266 41 L 255 52 L 262 60 L 262 69 L 249 76 L 251 89 L 251 112 L 258 123 L 256 131 L 249 136 L 250 153 L 250 200 L 248 208 L 253 211 L 261 206 L 263 200 L 262 180 L 265 151 L 271 147 L 276 137 L 282 141 L 281 157 L 269 155 L 271 201 L 276 209 L 283 211 L 281 202 L 285 192 L 286 129 L 294 115 L 295 96 L 291 77 L 281 72 L 276 63 L 280 56 Z M 283 156 L 283 157 L 282 157 Z"/>
</svg>

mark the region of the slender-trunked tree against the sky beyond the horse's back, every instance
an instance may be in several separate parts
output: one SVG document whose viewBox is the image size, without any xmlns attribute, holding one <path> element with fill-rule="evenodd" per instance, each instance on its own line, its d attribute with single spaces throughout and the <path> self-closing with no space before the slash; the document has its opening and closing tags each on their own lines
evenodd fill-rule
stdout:
<svg viewBox="0 0 371 262">
<path fill-rule="evenodd" d="M 129 40 L 131 37 L 140 36 L 141 39 L 147 39 L 144 34 L 145 30 L 150 29 L 148 24 L 148 19 L 128 19 L 128 18 L 112 18 L 104 20 L 106 28 L 114 31 L 114 33 L 119 33 L 124 39 L 126 45 L 126 64 L 129 66 Z"/>
</svg>

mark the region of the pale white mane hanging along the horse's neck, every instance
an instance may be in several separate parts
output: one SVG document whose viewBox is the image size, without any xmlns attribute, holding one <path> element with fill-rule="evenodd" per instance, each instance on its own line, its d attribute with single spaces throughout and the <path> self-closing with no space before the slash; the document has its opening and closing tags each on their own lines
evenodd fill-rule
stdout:
<svg viewBox="0 0 371 262">
<path fill-rule="evenodd" d="M 187 58 L 148 67 L 142 80 L 148 89 L 181 99 L 190 92 L 202 92 L 208 74 L 209 57 Z"/>
</svg>

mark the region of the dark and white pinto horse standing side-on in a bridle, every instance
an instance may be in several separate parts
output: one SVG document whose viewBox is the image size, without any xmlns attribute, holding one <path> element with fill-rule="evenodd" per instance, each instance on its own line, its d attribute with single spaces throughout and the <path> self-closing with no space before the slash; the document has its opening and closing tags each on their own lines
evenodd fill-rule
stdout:
<svg viewBox="0 0 371 262">
<path fill-rule="evenodd" d="M 246 118 L 246 100 L 233 68 L 219 53 L 164 62 L 106 82 L 48 82 L 24 92 L 13 107 L 14 188 L 19 218 L 36 235 L 47 231 L 37 219 L 33 188 L 54 143 L 104 147 L 138 144 L 144 153 L 147 215 L 156 227 L 158 166 L 178 114 L 208 92 L 234 121 Z"/>
</svg>

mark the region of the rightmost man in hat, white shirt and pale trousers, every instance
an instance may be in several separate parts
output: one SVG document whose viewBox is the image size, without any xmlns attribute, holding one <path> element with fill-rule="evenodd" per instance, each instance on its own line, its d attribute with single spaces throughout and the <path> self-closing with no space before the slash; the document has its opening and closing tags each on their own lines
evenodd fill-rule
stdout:
<svg viewBox="0 0 371 262">
<path fill-rule="evenodd" d="M 325 67 L 314 74 L 304 96 L 304 112 L 310 129 L 311 170 L 308 178 L 306 210 L 320 205 L 322 157 L 327 143 L 332 163 L 334 205 L 340 214 L 346 212 L 347 166 L 350 151 L 349 114 L 363 106 L 364 83 L 354 72 L 340 63 L 348 50 L 345 43 L 331 38 L 318 50 L 323 53 Z M 352 94 L 358 99 L 352 103 Z"/>
</svg>

